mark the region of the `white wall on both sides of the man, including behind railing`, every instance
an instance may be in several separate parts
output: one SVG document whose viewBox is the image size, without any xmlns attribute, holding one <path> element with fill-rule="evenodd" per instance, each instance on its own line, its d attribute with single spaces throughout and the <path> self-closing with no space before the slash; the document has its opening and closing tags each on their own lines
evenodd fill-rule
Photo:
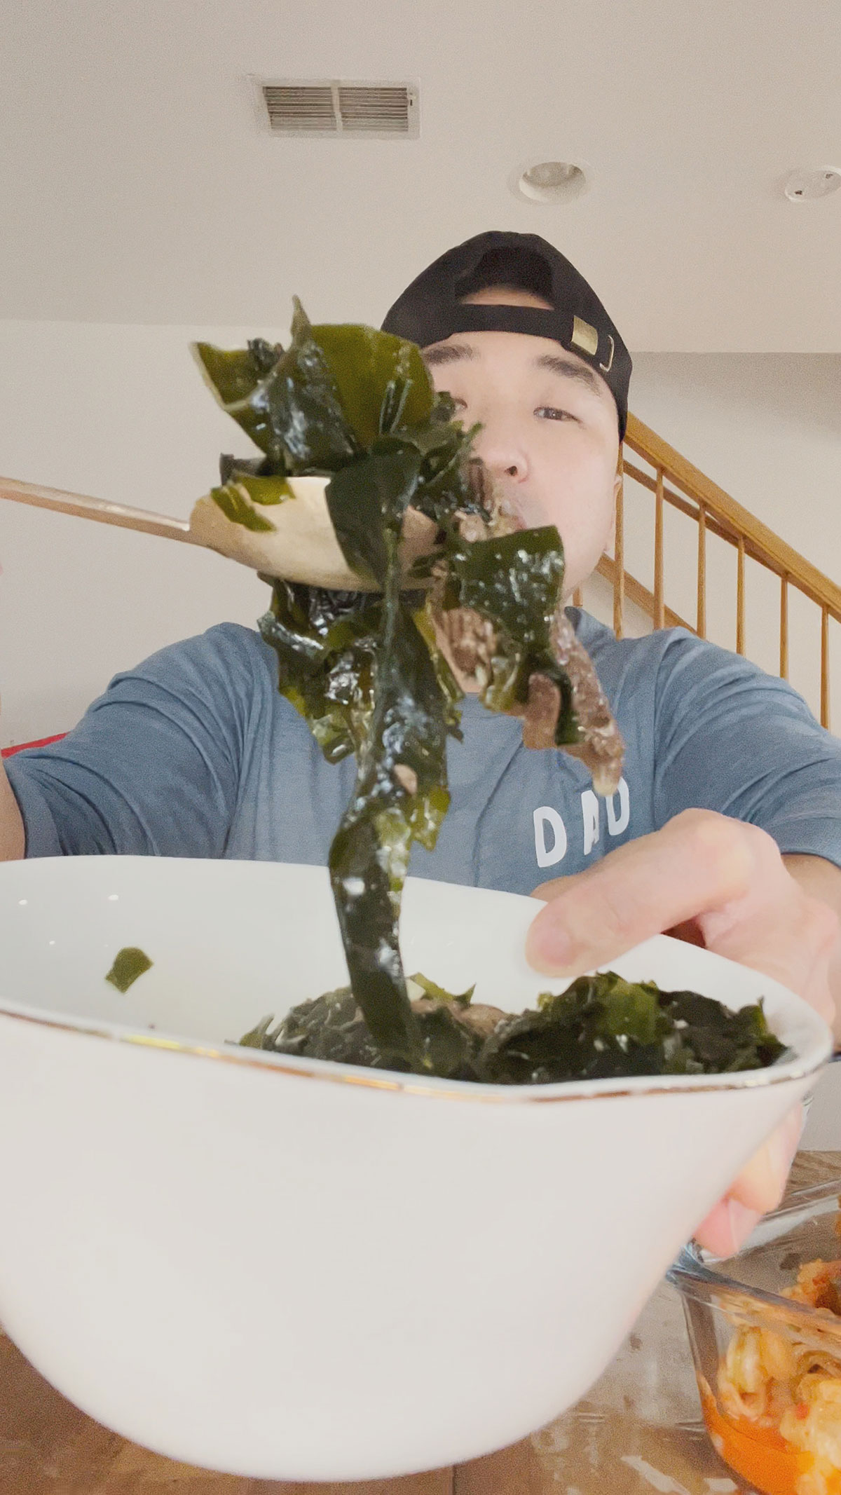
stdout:
<svg viewBox="0 0 841 1495">
<path fill-rule="evenodd" d="M 248 450 L 188 344 L 238 345 L 257 332 L 285 329 L 0 321 L 0 472 L 185 516 L 214 481 L 220 450 Z M 635 362 L 642 420 L 841 579 L 841 357 Z M 629 570 L 650 580 L 630 519 L 629 529 Z M 666 585 L 668 601 L 692 614 L 687 544 L 668 534 Z M 724 561 L 711 544 L 710 631 L 732 646 Z M 0 565 L 3 746 L 72 727 L 115 671 L 221 619 L 251 623 L 267 598 L 251 573 L 209 552 L 4 502 Z M 748 602 L 748 652 L 775 668 L 777 592 L 751 579 Z M 817 623 L 792 602 L 792 628 L 795 679 L 816 706 Z M 838 671 L 837 682 L 841 721 Z"/>
</svg>

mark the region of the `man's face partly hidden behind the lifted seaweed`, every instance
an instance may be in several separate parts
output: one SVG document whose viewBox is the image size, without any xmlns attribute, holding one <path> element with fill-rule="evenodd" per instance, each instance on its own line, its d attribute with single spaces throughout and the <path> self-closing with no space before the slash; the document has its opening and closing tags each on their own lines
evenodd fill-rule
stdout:
<svg viewBox="0 0 841 1495">
<path fill-rule="evenodd" d="M 465 300 L 548 308 L 508 287 Z M 559 342 L 520 332 L 457 332 L 426 348 L 424 359 L 435 387 L 453 395 L 459 419 L 481 422 L 475 451 L 523 525 L 557 525 L 571 597 L 612 532 L 618 426 L 608 386 Z"/>
</svg>

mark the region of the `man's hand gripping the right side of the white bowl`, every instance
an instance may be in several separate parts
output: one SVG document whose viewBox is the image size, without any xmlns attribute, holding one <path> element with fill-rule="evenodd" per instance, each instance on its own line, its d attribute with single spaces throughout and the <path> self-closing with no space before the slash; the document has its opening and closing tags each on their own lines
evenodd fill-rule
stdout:
<svg viewBox="0 0 841 1495">
<path fill-rule="evenodd" d="M 548 901 L 529 930 L 527 957 L 547 975 L 580 976 L 653 934 L 677 934 L 774 976 L 832 1023 L 838 916 L 786 870 L 756 825 L 684 810 L 587 872 L 542 884 L 535 897 Z M 798 1106 L 699 1226 L 702 1245 L 729 1256 L 780 1203 L 799 1133 Z"/>
</svg>

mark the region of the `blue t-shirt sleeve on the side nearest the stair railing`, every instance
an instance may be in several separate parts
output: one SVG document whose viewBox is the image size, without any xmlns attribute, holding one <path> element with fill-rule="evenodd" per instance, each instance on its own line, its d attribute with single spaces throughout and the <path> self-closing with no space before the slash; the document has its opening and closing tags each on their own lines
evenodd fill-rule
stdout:
<svg viewBox="0 0 841 1495">
<path fill-rule="evenodd" d="M 692 806 L 762 827 L 781 852 L 841 867 L 841 742 L 784 680 L 672 635 L 654 707 L 654 821 Z"/>
</svg>

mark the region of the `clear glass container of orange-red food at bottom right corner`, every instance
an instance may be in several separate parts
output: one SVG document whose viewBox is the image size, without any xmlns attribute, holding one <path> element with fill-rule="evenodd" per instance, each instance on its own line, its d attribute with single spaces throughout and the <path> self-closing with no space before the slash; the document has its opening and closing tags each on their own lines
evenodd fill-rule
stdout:
<svg viewBox="0 0 841 1495">
<path fill-rule="evenodd" d="M 841 1495 L 840 1193 L 802 1189 L 736 1256 L 687 1247 L 668 1274 L 707 1431 L 763 1495 Z"/>
</svg>

